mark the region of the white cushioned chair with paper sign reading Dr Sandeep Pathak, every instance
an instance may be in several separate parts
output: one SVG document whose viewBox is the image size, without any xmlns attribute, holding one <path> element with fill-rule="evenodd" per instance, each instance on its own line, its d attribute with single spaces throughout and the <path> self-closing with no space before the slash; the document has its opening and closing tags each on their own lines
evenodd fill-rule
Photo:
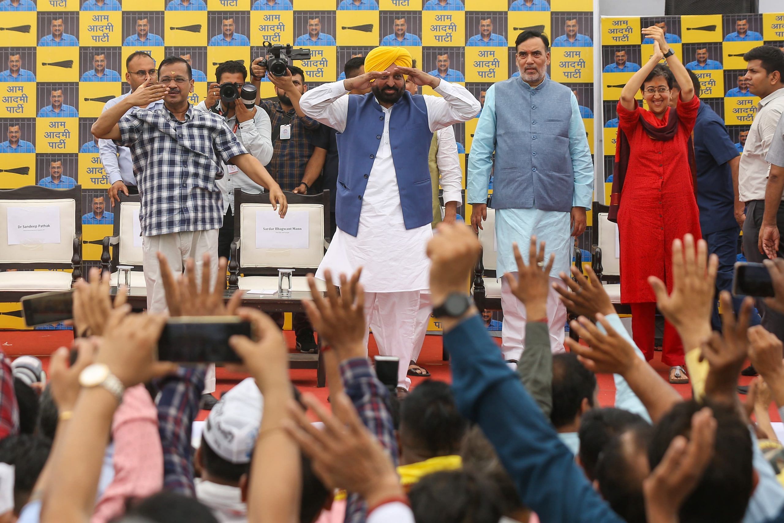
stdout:
<svg viewBox="0 0 784 523">
<path fill-rule="evenodd" d="M 26 210 L 38 217 L 38 209 L 45 212 L 40 222 L 25 217 L 30 214 Z M 50 225 L 57 231 L 30 232 L 20 238 L 18 229 L 26 223 Z M 67 291 L 82 277 L 81 185 L 70 189 L 28 185 L 0 190 L 0 269 L 0 302 L 18 302 L 28 294 L 45 291 Z M 64 272 L 68 269 L 70 273 Z"/>
</svg>

